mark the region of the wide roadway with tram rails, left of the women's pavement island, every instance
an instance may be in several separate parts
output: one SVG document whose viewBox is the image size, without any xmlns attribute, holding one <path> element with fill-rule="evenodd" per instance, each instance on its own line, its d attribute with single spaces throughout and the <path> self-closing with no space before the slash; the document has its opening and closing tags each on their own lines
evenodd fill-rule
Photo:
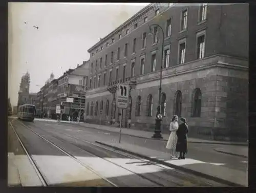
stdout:
<svg viewBox="0 0 256 193">
<path fill-rule="evenodd" d="M 163 165 L 148 163 L 131 155 L 96 146 L 95 140 L 116 140 L 116 136 L 110 133 L 54 122 L 23 123 L 117 186 L 223 186 Z M 84 169 L 28 130 L 26 126 L 21 126 L 16 120 L 13 124 L 28 152 L 51 185 L 110 186 L 104 179 L 99 179 L 99 176 Z M 130 140 L 130 137 L 124 137 L 122 140 Z"/>
</svg>

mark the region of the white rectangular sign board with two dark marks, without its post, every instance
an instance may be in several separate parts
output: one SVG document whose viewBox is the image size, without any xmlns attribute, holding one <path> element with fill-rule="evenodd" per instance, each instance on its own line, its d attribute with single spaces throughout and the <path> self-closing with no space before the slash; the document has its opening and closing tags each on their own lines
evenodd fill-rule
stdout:
<svg viewBox="0 0 256 193">
<path fill-rule="evenodd" d="M 126 109 L 128 107 L 129 92 L 129 84 L 117 84 L 117 108 Z"/>
</svg>

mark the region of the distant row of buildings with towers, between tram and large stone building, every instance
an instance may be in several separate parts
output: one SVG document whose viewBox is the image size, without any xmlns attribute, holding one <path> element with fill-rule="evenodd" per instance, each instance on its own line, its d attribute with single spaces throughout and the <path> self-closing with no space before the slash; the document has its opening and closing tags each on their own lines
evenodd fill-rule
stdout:
<svg viewBox="0 0 256 193">
<path fill-rule="evenodd" d="M 37 93 L 29 93 L 29 73 L 22 77 L 18 93 L 18 106 L 21 104 L 34 104 L 36 117 L 57 119 L 56 106 L 61 106 L 61 118 L 67 120 L 68 116 L 75 119 L 83 112 L 86 99 L 86 77 L 89 72 L 88 65 L 83 62 L 75 69 L 69 69 L 59 78 L 54 78 L 53 73 L 45 85 Z"/>
</svg>

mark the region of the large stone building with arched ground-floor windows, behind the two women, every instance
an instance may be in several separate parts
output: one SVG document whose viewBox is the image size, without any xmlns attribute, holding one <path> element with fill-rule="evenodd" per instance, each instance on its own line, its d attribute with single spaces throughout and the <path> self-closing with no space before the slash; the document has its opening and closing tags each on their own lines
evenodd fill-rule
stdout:
<svg viewBox="0 0 256 193">
<path fill-rule="evenodd" d="M 157 26 L 149 35 L 153 24 L 164 37 Z M 247 4 L 150 4 L 88 52 L 87 122 L 118 122 L 116 86 L 127 82 L 123 125 L 153 131 L 163 53 L 162 132 L 179 115 L 187 118 L 190 137 L 247 138 Z"/>
</svg>

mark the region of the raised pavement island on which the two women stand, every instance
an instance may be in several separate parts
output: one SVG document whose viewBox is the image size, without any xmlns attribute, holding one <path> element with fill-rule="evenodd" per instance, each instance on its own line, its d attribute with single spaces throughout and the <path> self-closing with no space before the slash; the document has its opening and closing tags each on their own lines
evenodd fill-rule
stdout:
<svg viewBox="0 0 256 193">
<path fill-rule="evenodd" d="M 224 183 L 229 186 L 248 186 L 247 172 L 227 168 L 215 163 L 203 162 L 195 159 L 177 160 L 170 159 L 168 153 L 155 151 L 149 148 L 129 143 L 99 142 L 101 145 L 109 146 L 119 151 L 130 153 L 143 159 L 151 160 L 187 173 L 195 174 L 203 178 Z"/>
</svg>

